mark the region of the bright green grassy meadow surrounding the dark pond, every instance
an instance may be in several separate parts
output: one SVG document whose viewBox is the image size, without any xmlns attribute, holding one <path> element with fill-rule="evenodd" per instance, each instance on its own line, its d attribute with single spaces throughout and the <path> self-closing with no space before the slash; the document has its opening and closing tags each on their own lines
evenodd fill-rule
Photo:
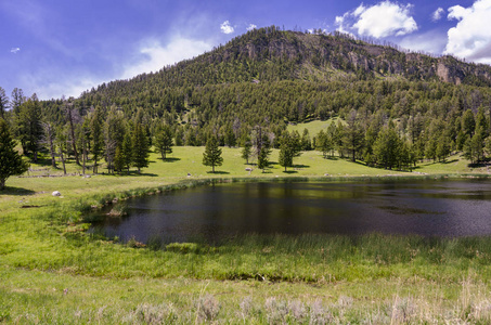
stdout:
<svg viewBox="0 0 491 325">
<path fill-rule="evenodd" d="M 0 193 L 0 323 L 482 323 L 491 321 L 491 238 L 257 236 L 204 243 L 114 243 L 85 232 L 87 212 L 129 196 L 209 179 L 454 177 L 487 173 L 458 156 L 416 172 L 307 152 L 262 173 L 223 148 L 218 173 L 202 147 L 152 154 L 142 174 L 68 176 L 33 165 Z M 247 172 L 245 168 L 253 167 Z M 69 173 L 81 170 L 73 162 Z M 47 177 L 50 174 L 51 177 Z M 190 176 L 188 176 L 190 174 Z M 429 177 L 429 176 L 428 176 Z M 61 197 L 51 193 L 60 191 Z"/>
</svg>

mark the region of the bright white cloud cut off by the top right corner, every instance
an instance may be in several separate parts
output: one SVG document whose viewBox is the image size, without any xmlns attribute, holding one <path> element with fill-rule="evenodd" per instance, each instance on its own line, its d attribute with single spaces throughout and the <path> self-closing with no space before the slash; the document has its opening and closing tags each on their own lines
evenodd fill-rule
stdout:
<svg viewBox="0 0 491 325">
<path fill-rule="evenodd" d="M 478 0 L 470 8 L 449 8 L 448 18 L 458 21 L 448 31 L 444 54 L 491 64 L 491 0 Z"/>
</svg>

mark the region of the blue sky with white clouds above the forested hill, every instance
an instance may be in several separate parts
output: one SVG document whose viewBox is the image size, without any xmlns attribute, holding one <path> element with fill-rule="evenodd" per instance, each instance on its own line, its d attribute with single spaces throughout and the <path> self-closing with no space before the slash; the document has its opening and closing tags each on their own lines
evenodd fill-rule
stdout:
<svg viewBox="0 0 491 325">
<path fill-rule="evenodd" d="M 0 87 L 78 96 L 158 70 L 248 28 L 322 28 L 491 64 L 491 0 L 0 0 Z"/>
</svg>

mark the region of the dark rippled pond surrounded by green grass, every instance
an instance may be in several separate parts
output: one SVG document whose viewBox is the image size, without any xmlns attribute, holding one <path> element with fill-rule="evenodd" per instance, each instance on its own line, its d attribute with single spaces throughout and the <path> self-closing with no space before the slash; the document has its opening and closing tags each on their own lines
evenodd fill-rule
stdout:
<svg viewBox="0 0 491 325">
<path fill-rule="evenodd" d="M 133 198 L 96 225 L 146 242 L 215 242 L 235 234 L 491 234 L 491 181 L 231 183 Z"/>
</svg>

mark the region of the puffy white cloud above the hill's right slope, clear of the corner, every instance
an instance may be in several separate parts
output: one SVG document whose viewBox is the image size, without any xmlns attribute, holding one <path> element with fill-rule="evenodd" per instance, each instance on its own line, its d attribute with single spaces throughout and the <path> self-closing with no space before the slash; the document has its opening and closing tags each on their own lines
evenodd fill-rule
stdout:
<svg viewBox="0 0 491 325">
<path fill-rule="evenodd" d="M 360 4 L 356 10 L 336 16 L 335 24 L 339 31 L 354 31 L 360 36 L 403 36 L 417 30 L 411 9 L 412 4 L 402 5 L 388 0 L 372 6 Z"/>
</svg>

